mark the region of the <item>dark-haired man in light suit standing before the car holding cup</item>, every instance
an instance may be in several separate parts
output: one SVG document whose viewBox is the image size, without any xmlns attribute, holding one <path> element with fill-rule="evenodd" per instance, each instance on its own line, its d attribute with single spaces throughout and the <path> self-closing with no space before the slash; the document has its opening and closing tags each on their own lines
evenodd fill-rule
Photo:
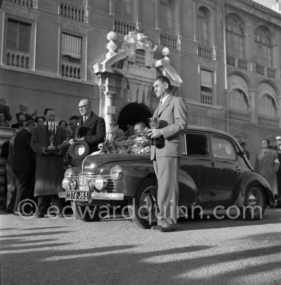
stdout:
<svg viewBox="0 0 281 285">
<path fill-rule="evenodd" d="M 183 98 L 172 96 L 167 77 L 157 77 L 153 86 L 160 99 L 153 115 L 159 118 L 159 127 L 148 130 L 148 136 L 160 136 L 161 145 L 151 146 L 151 160 L 158 180 L 157 226 L 151 228 L 170 232 L 177 229 L 178 172 L 182 157 L 180 135 L 188 127 L 188 108 Z"/>
</svg>

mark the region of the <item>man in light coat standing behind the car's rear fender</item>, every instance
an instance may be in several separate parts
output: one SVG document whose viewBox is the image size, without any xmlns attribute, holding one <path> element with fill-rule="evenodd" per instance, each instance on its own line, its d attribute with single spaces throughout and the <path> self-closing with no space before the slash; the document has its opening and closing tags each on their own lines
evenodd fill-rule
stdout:
<svg viewBox="0 0 281 285">
<path fill-rule="evenodd" d="M 269 144 L 268 139 L 262 140 L 263 150 L 258 151 L 255 155 L 254 171 L 268 181 L 276 198 L 278 194 L 276 172 L 280 164 L 276 150 L 270 149 Z"/>
</svg>

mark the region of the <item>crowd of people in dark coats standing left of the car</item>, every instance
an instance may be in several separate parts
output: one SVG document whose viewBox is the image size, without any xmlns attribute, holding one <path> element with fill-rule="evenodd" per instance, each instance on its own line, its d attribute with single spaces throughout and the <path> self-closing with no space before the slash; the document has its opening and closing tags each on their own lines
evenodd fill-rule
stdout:
<svg viewBox="0 0 281 285">
<path fill-rule="evenodd" d="M 64 176 L 64 160 L 69 145 L 74 143 L 74 124 L 79 123 L 77 140 L 87 141 L 90 151 L 98 150 L 103 143 L 106 130 L 102 117 L 91 111 L 91 102 L 82 99 L 78 110 L 81 116 L 72 115 L 66 120 L 55 124 L 53 145 L 51 144 L 48 128 L 49 122 L 55 122 L 55 110 L 46 108 L 43 116 L 38 116 L 35 110 L 31 115 L 27 113 L 27 104 L 20 104 L 16 114 L 17 123 L 11 127 L 15 132 L 2 147 L 2 156 L 6 157 L 5 172 L 5 210 L 15 216 L 24 216 L 29 209 L 22 208 L 20 202 L 26 199 L 37 199 L 36 218 L 43 218 L 46 213 L 48 198 L 52 200 L 52 207 L 57 217 L 62 216 L 62 202 L 58 197 Z M 12 118 L 9 107 L 0 106 L 1 126 L 9 127 Z M 51 125 L 51 124 L 50 124 Z M 73 165 L 80 165 L 79 159 L 73 159 Z M 31 209 L 30 209 L 31 210 Z"/>
</svg>

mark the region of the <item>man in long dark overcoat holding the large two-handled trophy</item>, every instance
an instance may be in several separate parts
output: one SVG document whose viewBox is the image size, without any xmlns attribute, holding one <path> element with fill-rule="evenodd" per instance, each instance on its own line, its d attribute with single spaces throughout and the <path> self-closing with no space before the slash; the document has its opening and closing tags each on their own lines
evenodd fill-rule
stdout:
<svg viewBox="0 0 281 285">
<path fill-rule="evenodd" d="M 55 111 L 50 108 L 45 109 L 44 118 L 46 123 L 54 121 Z M 58 193 L 62 191 L 63 155 L 68 146 L 65 131 L 59 126 L 56 127 L 54 135 L 54 146 L 58 149 L 56 153 L 46 151 L 50 146 L 50 139 L 45 124 L 33 131 L 30 145 L 36 153 L 34 197 L 38 197 L 38 211 L 35 217 L 44 217 L 49 195 L 52 196 L 52 206 L 59 210 L 57 216 L 62 217 L 61 199 L 58 197 Z"/>
</svg>

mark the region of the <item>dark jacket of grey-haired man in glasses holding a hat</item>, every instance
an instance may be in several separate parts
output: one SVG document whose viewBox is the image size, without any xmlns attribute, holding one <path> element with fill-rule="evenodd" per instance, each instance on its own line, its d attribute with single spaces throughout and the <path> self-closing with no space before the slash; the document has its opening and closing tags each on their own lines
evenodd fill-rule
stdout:
<svg viewBox="0 0 281 285">
<path fill-rule="evenodd" d="M 89 144 L 90 153 L 98 151 L 99 144 L 104 142 L 105 138 L 105 121 L 104 118 L 91 112 L 83 124 L 83 116 L 79 118 L 77 123 L 80 123 L 78 137 L 84 137 Z"/>
</svg>

